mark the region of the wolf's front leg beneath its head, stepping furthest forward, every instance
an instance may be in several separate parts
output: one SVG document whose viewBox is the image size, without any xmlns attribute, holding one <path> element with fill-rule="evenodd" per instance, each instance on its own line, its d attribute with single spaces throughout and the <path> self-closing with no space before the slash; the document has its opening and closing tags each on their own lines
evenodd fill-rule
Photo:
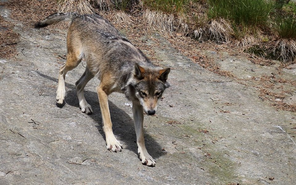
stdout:
<svg viewBox="0 0 296 185">
<path fill-rule="evenodd" d="M 148 154 L 143 134 L 143 107 L 139 102 L 133 102 L 133 116 L 135 122 L 135 130 L 137 134 L 138 154 L 142 160 L 142 164 L 147 166 L 155 166 L 155 160 Z"/>
</svg>

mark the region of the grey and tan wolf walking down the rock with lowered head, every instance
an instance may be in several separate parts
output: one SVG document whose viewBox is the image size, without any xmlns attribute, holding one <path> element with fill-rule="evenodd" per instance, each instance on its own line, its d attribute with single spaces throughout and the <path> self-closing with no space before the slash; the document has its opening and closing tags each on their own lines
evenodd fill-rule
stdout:
<svg viewBox="0 0 296 185">
<path fill-rule="evenodd" d="M 135 47 L 108 20 L 99 14 L 54 13 L 37 22 L 42 28 L 59 22 L 69 22 L 67 32 L 67 61 L 60 67 L 56 100 L 63 104 L 66 73 L 78 66 L 84 56 L 86 68 L 77 80 L 76 90 L 83 113 L 92 113 L 84 98 L 84 87 L 93 77 L 100 80 L 96 91 L 101 108 L 106 147 L 113 152 L 121 151 L 122 145 L 115 138 L 110 119 L 108 96 L 120 92 L 133 102 L 132 110 L 137 136 L 138 156 L 142 164 L 155 166 L 144 142 L 144 112 L 154 115 L 159 99 L 170 86 L 170 68 L 154 66 L 143 52 Z"/>
</svg>

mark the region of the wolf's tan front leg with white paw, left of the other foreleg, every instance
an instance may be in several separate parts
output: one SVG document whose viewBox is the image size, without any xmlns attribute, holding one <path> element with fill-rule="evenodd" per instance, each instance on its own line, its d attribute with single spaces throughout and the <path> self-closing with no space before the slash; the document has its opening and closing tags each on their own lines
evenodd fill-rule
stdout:
<svg viewBox="0 0 296 185">
<path fill-rule="evenodd" d="M 112 131 L 112 122 L 110 118 L 108 95 L 102 89 L 101 85 L 97 87 L 97 93 L 100 101 L 100 108 L 101 108 L 103 124 L 104 124 L 103 129 L 106 136 L 107 149 L 112 150 L 113 152 L 117 152 L 117 151 L 121 152 L 122 146 L 120 142 L 117 141 Z"/>
</svg>

